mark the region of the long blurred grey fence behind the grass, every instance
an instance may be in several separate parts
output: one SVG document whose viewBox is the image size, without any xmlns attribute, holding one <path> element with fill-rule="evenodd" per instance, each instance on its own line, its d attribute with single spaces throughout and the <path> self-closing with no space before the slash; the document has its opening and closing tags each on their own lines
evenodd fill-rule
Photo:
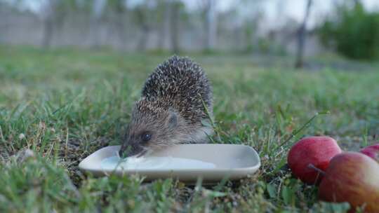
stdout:
<svg viewBox="0 0 379 213">
<path fill-rule="evenodd" d="M 210 13 L 215 13 L 213 0 L 199 1 L 202 4 L 199 3 L 198 9 L 192 11 L 180 1 L 141 1 L 145 4 L 128 8 L 125 4 L 110 4 L 117 1 L 102 0 L 103 4 L 109 5 L 102 6 L 101 13 L 94 9 L 96 2 L 101 3 L 97 0 L 88 1 L 92 5 L 88 4 L 87 9 L 86 5 L 78 8 L 79 1 L 47 2 L 49 4 L 38 13 L 0 4 L 0 43 L 109 46 L 120 50 L 174 52 L 295 53 L 295 32 L 299 25 L 295 20 L 288 20 L 283 27 L 269 29 L 257 10 L 247 18 L 241 18 L 236 8 L 212 16 Z M 310 34 L 305 55 L 314 55 L 321 50 L 317 37 Z"/>
</svg>

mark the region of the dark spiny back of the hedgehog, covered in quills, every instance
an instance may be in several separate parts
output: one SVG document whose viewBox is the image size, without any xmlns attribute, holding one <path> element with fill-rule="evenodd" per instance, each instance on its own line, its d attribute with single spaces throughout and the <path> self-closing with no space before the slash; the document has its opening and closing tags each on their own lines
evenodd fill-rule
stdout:
<svg viewBox="0 0 379 213">
<path fill-rule="evenodd" d="M 212 89 L 201 67 L 187 57 L 173 56 L 159 64 L 142 89 L 147 101 L 163 101 L 192 123 L 206 118 L 204 104 L 212 111 Z M 166 105 L 164 104 L 164 105 Z"/>
</svg>

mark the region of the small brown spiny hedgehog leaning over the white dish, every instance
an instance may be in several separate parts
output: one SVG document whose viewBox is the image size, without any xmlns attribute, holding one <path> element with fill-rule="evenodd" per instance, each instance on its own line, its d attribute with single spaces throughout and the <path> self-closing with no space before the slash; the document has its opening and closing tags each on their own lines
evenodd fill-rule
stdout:
<svg viewBox="0 0 379 213">
<path fill-rule="evenodd" d="M 203 69 L 176 55 L 159 64 L 135 102 L 119 156 L 143 156 L 175 144 L 206 143 L 213 135 L 213 92 Z"/>
</svg>

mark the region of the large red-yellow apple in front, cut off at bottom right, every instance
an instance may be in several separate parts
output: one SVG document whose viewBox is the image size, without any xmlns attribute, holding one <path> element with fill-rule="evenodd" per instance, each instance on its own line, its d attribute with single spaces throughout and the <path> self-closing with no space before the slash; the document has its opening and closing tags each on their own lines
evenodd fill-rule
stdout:
<svg viewBox="0 0 379 213">
<path fill-rule="evenodd" d="M 379 163 L 358 152 L 335 156 L 319 186 L 319 198 L 349 202 L 352 211 L 379 212 Z"/>
</svg>

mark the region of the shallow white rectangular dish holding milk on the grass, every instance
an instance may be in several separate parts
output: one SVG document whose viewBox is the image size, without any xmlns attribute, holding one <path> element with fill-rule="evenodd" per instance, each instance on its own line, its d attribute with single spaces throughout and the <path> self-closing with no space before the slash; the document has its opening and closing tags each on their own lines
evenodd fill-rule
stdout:
<svg viewBox="0 0 379 213">
<path fill-rule="evenodd" d="M 250 146 L 235 144 L 181 144 L 151 154 L 151 156 L 171 156 L 173 158 L 189 158 L 215 164 L 212 169 L 180 169 L 180 170 L 105 170 L 100 166 L 104 158 L 115 156 L 120 146 L 107 146 L 95 151 L 79 163 L 79 168 L 90 172 L 95 177 L 107 174 L 140 174 L 145 181 L 154 179 L 174 178 L 187 183 L 194 183 L 201 177 L 206 183 L 222 179 L 236 180 L 255 173 L 260 167 L 258 153 Z"/>
</svg>

